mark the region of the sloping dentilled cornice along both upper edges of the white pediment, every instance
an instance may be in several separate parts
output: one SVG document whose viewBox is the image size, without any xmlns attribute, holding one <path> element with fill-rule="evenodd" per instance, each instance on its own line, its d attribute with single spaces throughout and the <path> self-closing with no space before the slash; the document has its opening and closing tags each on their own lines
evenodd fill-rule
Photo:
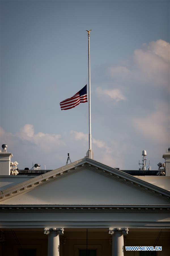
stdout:
<svg viewBox="0 0 170 256">
<path fill-rule="evenodd" d="M 122 172 L 120 170 L 101 164 L 100 162 L 97 162 L 93 159 L 85 157 L 71 164 L 62 166 L 58 169 L 39 175 L 37 177 L 29 179 L 28 181 L 24 181 L 8 189 L 5 189 L 4 191 L 1 191 L 0 202 L 3 203 L 8 199 L 11 199 L 18 195 L 22 195 L 40 186 L 44 186 L 45 184 L 64 178 L 83 169 L 92 170 L 93 172 L 96 172 L 100 175 L 109 177 L 110 179 L 124 183 L 135 189 L 139 189 L 140 191 L 156 196 L 165 201 L 170 201 L 169 191 L 152 185 L 134 176 L 131 176 L 130 174 L 126 174 L 125 172 Z"/>
</svg>

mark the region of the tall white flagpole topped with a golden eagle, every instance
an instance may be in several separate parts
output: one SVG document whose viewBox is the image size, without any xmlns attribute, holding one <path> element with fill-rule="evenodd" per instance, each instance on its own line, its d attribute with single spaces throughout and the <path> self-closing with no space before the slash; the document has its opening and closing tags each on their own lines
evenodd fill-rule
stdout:
<svg viewBox="0 0 170 256">
<path fill-rule="evenodd" d="M 93 152 L 92 152 L 92 135 L 91 135 L 91 98 L 90 98 L 90 31 L 88 32 L 88 103 L 89 103 L 89 149 L 86 153 L 86 156 L 93 159 Z"/>
</svg>

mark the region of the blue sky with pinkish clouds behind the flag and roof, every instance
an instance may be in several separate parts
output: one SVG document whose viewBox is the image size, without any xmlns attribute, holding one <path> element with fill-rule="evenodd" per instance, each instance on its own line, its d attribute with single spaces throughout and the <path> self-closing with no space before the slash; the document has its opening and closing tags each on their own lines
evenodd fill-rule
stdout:
<svg viewBox="0 0 170 256">
<path fill-rule="evenodd" d="M 59 102 L 87 83 L 90 30 L 94 159 L 152 170 L 169 139 L 169 1 L 1 1 L 1 144 L 18 168 L 83 158 L 88 103 Z"/>
</svg>

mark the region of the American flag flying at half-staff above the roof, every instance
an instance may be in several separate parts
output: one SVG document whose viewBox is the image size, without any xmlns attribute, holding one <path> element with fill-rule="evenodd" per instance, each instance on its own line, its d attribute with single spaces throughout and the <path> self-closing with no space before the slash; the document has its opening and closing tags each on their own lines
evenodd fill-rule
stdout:
<svg viewBox="0 0 170 256">
<path fill-rule="evenodd" d="M 60 102 L 61 110 L 75 108 L 80 103 L 87 102 L 87 84 L 73 97 Z"/>
</svg>

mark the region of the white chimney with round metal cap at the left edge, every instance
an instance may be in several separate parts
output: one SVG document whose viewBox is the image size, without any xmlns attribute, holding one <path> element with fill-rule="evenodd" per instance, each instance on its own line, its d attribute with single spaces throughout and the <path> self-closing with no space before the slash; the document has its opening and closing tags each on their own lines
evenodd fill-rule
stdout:
<svg viewBox="0 0 170 256">
<path fill-rule="evenodd" d="M 2 152 L 0 151 L 0 175 L 10 175 L 10 159 L 13 157 L 12 153 L 7 152 L 7 145 L 2 145 Z"/>
</svg>

